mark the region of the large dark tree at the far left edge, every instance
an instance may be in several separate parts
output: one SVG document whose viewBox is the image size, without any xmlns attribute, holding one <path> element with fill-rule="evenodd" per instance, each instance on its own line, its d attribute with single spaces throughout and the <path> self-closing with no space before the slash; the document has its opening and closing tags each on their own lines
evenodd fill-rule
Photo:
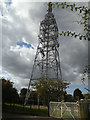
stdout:
<svg viewBox="0 0 90 120">
<path fill-rule="evenodd" d="M 19 95 L 16 88 L 13 88 L 13 82 L 10 80 L 2 80 L 2 102 L 18 103 Z"/>
</svg>

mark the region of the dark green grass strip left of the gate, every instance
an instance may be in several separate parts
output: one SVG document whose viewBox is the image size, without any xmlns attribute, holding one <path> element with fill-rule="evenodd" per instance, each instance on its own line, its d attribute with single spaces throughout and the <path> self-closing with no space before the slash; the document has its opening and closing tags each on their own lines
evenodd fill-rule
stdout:
<svg viewBox="0 0 90 120">
<path fill-rule="evenodd" d="M 33 115 L 33 116 L 48 116 L 48 110 L 46 108 L 22 106 L 19 104 L 3 104 L 3 113 L 10 114 L 23 114 L 23 115 Z"/>
</svg>

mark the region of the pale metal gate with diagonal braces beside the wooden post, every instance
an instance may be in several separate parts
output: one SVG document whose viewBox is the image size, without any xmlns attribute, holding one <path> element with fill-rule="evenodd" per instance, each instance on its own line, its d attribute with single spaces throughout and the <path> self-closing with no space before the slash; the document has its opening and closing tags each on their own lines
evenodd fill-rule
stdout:
<svg viewBox="0 0 90 120">
<path fill-rule="evenodd" d="M 76 102 L 50 102 L 51 117 L 78 120 L 78 104 Z"/>
</svg>

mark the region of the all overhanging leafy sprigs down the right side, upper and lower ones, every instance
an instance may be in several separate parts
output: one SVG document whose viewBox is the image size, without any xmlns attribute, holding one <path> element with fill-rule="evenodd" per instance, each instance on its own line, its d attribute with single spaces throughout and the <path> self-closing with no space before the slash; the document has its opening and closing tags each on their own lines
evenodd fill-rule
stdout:
<svg viewBox="0 0 90 120">
<path fill-rule="evenodd" d="M 48 3 L 48 5 L 50 2 Z M 88 40 L 90 41 L 90 9 L 88 6 L 77 6 L 76 3 L 69 3 L 69 2 L 53 2 L 52 3 L 53 8 L 62 8 L 62 9 L 70 9 L 72 12 L 77 12 L 77 14 L 80 17 L 80 20 L 77 21 L 77 24 L 80 24 L 83 26 L 83 34 L 77 33 L 77 31 L 61 31 L 58 33 L 60 36 L 71 36 L 74 38 L 79 38 L 80 40 Z M 56 33 L 57 34 L 57 33 Z M 52 35 L 53 36 L 53 35 Z M 88 52 L 88 51 L 87 51 Z M 89 60 L 88 60 L 89 61 Z M 90 79 L 90 65 L 86 65 L 85 69 L 83 71 L 83 78 L 82 82 L 85 83 L 86 76 L 88 80 Z M 88 92 L 90 92 L 89 88 L 85 88 Z"/>
</svg>

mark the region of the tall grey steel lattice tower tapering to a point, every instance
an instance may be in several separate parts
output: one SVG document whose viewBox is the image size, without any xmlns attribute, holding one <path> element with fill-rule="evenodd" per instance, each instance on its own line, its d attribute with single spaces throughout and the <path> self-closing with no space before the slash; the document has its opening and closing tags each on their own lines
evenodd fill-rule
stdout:
<svg viewBox="0 0 90 120">
<path fill-rule="evenodd" d="M 30 86 L 33 80 L 43 75 L 45 78 L 60 79 L 61 68 L 59 59 L 58 27 L 52 13 L 52 3 L 49 3 L 45 19 L 40 23 L 39 44 L 32 68 L 31 78 L 25 98 L 25 104 L 30 96 Z M 37 72 L 35 73 L 37 69 Z M 34 76 L 36 75 L 36 77 Z M 37 77 L 38 76 L 38 77 Z"/>
</svg>

